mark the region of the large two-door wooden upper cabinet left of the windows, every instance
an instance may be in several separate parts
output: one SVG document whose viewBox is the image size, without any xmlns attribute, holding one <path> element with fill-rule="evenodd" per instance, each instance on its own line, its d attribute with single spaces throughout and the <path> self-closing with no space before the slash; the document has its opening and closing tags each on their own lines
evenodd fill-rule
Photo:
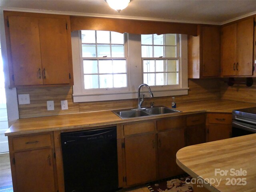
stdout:
<svg viewBox="0 0 256 192">
<path fill-rule="evenodd" d="M 5 11 L 4 19 L 11 86 L 73 84 L 69 16 Z"/>
</svg>

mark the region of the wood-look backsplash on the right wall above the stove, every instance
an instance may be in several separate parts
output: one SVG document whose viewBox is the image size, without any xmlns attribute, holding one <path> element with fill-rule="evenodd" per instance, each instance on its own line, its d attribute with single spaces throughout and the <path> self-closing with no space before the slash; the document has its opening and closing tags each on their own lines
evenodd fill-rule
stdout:
<svg viewBox="0 0 256 192">
<path fill-rule="evenodd" d="M 253 78 L 254 84 L 247 87 L 245 84 L 234 84 L 228 86 L 228 79 L 222 79 L 220 82 L 220 95 L 222 99 L 244 101 L 256 103 L 256 78 Z M 246 78 L 235 78 L 235 80 L 245 81 Z"/>
</svg>

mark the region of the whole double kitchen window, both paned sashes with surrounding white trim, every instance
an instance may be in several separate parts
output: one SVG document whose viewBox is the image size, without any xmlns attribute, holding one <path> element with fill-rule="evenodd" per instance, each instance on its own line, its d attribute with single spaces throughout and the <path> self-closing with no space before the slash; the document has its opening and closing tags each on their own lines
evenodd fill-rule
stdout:
<svg viewBox="0 0 256 192">
<path fill-rule="evenodd" d="M 74 102 L 188 94 L 186 35 L 74 31 L 72 59 Z"/>
</svg>

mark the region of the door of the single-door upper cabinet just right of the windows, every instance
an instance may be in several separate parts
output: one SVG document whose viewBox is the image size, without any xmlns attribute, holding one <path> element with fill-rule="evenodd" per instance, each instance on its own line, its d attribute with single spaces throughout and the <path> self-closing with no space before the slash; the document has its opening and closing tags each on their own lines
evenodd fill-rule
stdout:
<svg viewBox="0 0 256 192">
<path fill-rule="evenodd" d="M 220 28 L 202 27 L 202 76 L 220 76 Z"/>
</svg>

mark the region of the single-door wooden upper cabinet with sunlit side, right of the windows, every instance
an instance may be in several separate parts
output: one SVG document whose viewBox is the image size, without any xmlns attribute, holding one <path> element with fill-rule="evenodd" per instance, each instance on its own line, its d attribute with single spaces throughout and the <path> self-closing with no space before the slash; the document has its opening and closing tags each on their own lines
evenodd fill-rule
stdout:
<svg viewBox="0 0 256 192">
<path fill-rule="evenodd" d="M 220 27 L 200 26 L 188 36 L 188 78 L 220 76 Z"/>
</svg>

